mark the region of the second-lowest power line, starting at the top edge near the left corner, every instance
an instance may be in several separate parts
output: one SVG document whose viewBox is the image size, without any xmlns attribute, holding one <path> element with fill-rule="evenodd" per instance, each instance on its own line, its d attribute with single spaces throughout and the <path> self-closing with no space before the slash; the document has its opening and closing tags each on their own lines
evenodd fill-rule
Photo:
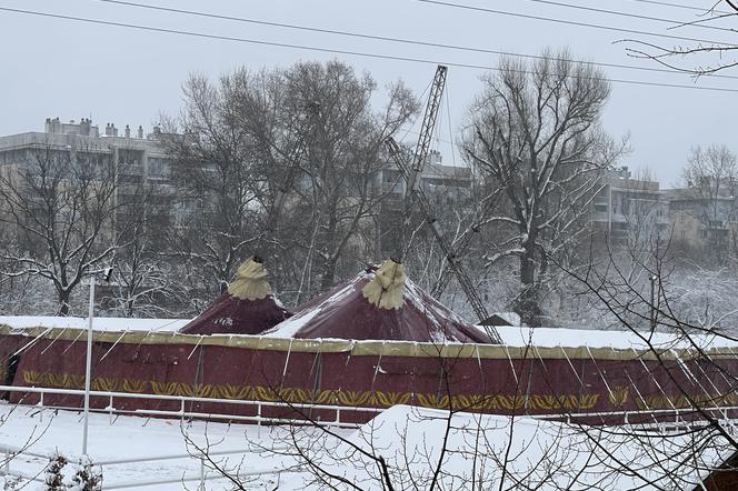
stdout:
<svg viewBox="0 0 738 491">
<path fill-rule="evenodd" d="M 309 27 L 309 26 L 300 26 L 300 24 L 291 24 L 291 23 L 283 23 L 283 22 L 266 21 L 266 20 L 259 20 L 259 19 L 250 19 L 250 18 L 245 18 L 245 17 L 222 16 L 222 14 L 218 14 L 218 13 L 203 12 L 203 11 L 197 11 L 197 10 L 184 10 L 184 9 L 174 9 L 174 8 L 171 8 L 171 7 L 151 6 L 151 4 L 148 4 L 148 3 L 138 3 L 138 2 L 131 2 L 131 1 L 124 1 L 124 0 L 93 0 L 93 1 L 99 1 L 99 2 L 104 2 L 104 3 L 116 3 L 116 4 L 120 4 L 120 6 L 136 7 L 136 8 L 148 9 L 148 10 L 158 10 L 158 11 L 164 11 L 164 12 L 181 13 L 181 14 L 202 17 L 202 18 L 208 18 L 208 19 L 219 19 L 219 20 L 228 20 L 228 21 L 235 21 L 235 22 L 246 22 L 246 23 L 251 23 L 251 24 L 257 24 L 257 26 L 278 27 L 278 28 L 285 28 L 285 29 L 307 31 L 307 32 L 318 32 L 318 33 L 327 33 L 327 34 L 346 36 L 346 37 L 358 38 L 358 39 L 370 39 L 370 40 L 376 40 L 376 41 L 388 41 L 388 42 L 397 42 L 397 43 L 402 43 L 402 44 L 422 46 L 422 47 L 429 47 L 429 48 L 442 48 L 442 49 L 450 49 L 450 50 L 456 50 L 456 51 L 470 51 L 470 52 L 478 52 L 478 53 L 486 53 L 486 54 L 498 54 L 498 56 L 507 56 L 507 57 L 516 57 L 516 58 L 527 58 L 527 59 L 533 59 L 533 60 L 549 59 L 549 60 L 555 60 L 555 61 L 561 61 L 560 58 L 556 58 L 556 57 L 542 57 L 542 56 L 536 56 L 536 54 L 525 54 L 525 53 L 515 53 L 515 52 L 509 52 L 509 51 L 499 51 L 499 50 L 492 50 L 492 49 L 486 49 L 486 48 L 476 48 L 476 47 L 448 44 L 448 43 L 430 42 L 430 41 L 418 41 L 418 40 L 413 40 L 413 39 L 396 38 L 396 37 L 389 37 L 389 36 L 367 34 L 367 33 L 361 33 L 361 32 L 341 31 L 341 30 L 336 30 L 336 29 L 322 29 L 322 28 L 315 28 L 315 27 Z M 546 0 L 530 0 L 530 1 L 546 1 Z M 675 21 L 675 22 L 677 22 L 677 21 Z M 666 69 L 666 68 L 638 67 L 638 66 L 634 66 L 634 64 L 606 63 L 606 62 L 597 62 L 597 61 L 581 61 L 581 63 L 589 64 L 589 66 L 595 66 L 595 67 L 602 67 L 602 68 L 616 68 L 616 69 L 640 70 L 640 71 L 649 71 L 649 72 L 658 72 L 658 73 L 681 74 L 681 73 L 678 73 L 674 70 L 669 70 L 669 69 Z M 714 74 L 714 77 L 725 78 L 725 79 L 738 79 L 738 77 L 736 77 L 736 76 L 726 76 L 726 74 L 720 74 L 720 73 L 716 73 L 716 74 Z"/>
</svg>

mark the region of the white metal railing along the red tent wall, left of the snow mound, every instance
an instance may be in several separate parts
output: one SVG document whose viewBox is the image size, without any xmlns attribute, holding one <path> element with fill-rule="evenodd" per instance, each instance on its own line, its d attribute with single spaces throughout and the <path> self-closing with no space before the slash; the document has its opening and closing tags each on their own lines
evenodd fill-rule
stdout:
<svg viewBox="0 0 738 491">
<path fill-rule="evenodd" d="M 43 409 L 64 409 L 72 411 L 80 411 L 79 407 L 62 407 L 48 404 L 44 401 L 46 394 L 56 394 L 56 395 L 78 395 L 83 397 L 84 391 L 78 389 L 51 389 L 42 387 L 14 387 L 14 385 L 0 385 L 0 392 L 19 392 L 19 393 L 32 393 L 39 394 L 39 402 L 37 407 Z M 112 417 L 116 414 L 124 415 L 144 415 L 144 417 L 169 417 L 169 418 L 191 418 L 191 419 L 207 419 L 207 420 L 227 420 L 227 421 L 245 421 L 252 422 L 258 425 L 261 423 L 290 423 L 290 424 L 301 424 L 307 423 L 307 420 L 300 418 L 273 418 L 263 415 L 265 408 L 280 408 L 286 410 L 326 410 L 336 412 L 336 419 L 333 420 L 318 420 L 319 424 L 325 427 L 337 427 L 337 428 L 359 428 L 359 423 L 341 421 L 341 413 L 346 412 L 362 412 L 377 414 L 383 411 L 379 408 L 359 408 L 359 407 L 347 407 L 347 405 L 335 405 L 335 404 L 312 404 L 312 403 L 288 403 L 281 401 L 247 401 L 240 399 L 218 399 L 218 398 L 202 398 L 202 397 L 190 397 L 190 395 L 163 395 L 163 394 L 149 394 L 149 393 L 133 393 L 133 392 L 111 392 L 111 391 L 90 391 L 91 398 L 107 398 L 108 405 L 103 409 L 90 409 L 91 412 L 107 413 L 110 415 L 110 421 L 112 422 Z M 143 399 L 152 401 L 170 401 L 178 402 L 179 410 L 157 410 L 157 409 L 117 409 L 116 399 Z M 23 401 L 19 401 L 23 403 Z M 187 403 L 210 403 L 210 404 L 231 404 L 231 405 L 247 405 L 256 407 L 256 415 L 238 415 L 238 414 L 227 414 L 227 413 L 217 413 L 217 412 L 197 412 L 197 411 L 187 411 Z M 42 418 L 42 415 L 41 415 Z"/>
</svg>

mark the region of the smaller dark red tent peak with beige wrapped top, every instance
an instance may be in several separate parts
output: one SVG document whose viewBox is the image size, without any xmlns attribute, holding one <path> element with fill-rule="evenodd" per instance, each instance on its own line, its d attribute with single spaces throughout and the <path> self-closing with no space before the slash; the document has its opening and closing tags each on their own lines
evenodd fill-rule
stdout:
<svg viewBox="0 0 738 491">
<path fill-rule="evenodd" d="M 186 334 L 259 334 L 289 318 L 267 281 L 267 270 L 259 258 L 247 260 L 238 269 L 228 291 L 180 332 Z"/>
</svg>

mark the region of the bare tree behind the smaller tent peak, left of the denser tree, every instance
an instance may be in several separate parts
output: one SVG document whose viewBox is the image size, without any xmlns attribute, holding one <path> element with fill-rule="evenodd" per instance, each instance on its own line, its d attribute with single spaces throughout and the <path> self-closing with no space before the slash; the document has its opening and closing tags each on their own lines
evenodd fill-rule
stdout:
<svg viewBox="0 0 738 491">
<path fill-rule="evenodd" d="M 252 227 L 260 179 L 257 153 L 239 124 L 235 100 L 248 81 L 245 71 L 215 84 L 191 76 L 183 86 L 184 109 L 164 121 L 161 134 L 178 189 L 172 250 L 202 268 L 220 292 L 259 234 Z"/>
</svg>

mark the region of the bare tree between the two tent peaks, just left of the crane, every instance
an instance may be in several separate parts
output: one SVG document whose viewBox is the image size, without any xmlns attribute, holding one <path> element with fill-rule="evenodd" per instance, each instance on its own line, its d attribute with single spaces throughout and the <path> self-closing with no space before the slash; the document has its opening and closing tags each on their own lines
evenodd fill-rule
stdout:
<svg viewBox="0 0 738 491">
<path fill-rule="evenodd" d="M 416 113 L 418 103 L 398 82 L 388 88 L 385 108 L 376 111 L 372 78 L 337 61 L 300 63 L 283 77 L 287 92 L 280 110 L 295 113 L 313 104 L 316 111 L 302 136 L 306 151 L 289 206 L 300 217 L 310 217 L 298 246 L 317 274 L 303 268 L 301 280 L 308 291 L 315 288 L 311 275 L 319 289 L 326 289 L 335 283 L 347 249 L 361 247 L 365 229 L 372 227 L 383 197 L 377 186 L 378 171 L 387 164 L 383 141 Z"/>
</svg>

